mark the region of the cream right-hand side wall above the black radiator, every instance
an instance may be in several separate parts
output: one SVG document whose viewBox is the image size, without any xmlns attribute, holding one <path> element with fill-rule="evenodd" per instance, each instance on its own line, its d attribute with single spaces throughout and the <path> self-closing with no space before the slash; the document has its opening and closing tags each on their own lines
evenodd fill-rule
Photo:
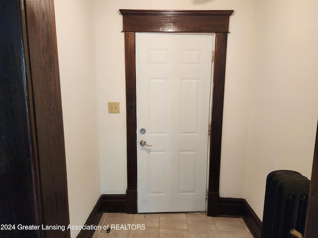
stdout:
<svg viewBox="0 0 318 238">
<path fill-rule="evenodd" d="M 311 178 L 318 119 L 318 1 L 258 0 L 244 198 L 263 216 L 265 178 Z"/>
</svg>

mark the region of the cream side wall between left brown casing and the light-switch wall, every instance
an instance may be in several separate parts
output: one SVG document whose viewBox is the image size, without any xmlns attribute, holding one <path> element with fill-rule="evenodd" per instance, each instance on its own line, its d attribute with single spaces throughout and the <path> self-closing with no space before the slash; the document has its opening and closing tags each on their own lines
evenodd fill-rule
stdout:
<svg viewBox="0 0 318 238">
<path fill-rule="evenodd" d="M 94 8 L 55 0 L 70 223 L 83 225 L 100 192 Z M 71 231 L 72 238 L 79 231 Z"/>
</svg>

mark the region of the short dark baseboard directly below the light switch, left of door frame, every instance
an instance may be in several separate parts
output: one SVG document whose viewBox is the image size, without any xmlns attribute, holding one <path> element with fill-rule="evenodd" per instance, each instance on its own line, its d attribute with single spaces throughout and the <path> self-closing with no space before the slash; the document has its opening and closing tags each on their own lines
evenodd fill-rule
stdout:
<svg viewBox="0 0 318 238">
<path fill-rule="evenodd" d="M 103 212 L 127 212 L 126 194 L 103 194 Z"/>
</svg>

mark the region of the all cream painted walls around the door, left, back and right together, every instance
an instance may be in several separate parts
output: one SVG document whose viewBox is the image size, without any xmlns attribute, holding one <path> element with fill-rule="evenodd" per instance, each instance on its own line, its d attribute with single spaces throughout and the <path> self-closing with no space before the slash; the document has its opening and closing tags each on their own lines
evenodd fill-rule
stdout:
<svg viewBox="0 0 318 238">
<path fill-rule="evenodd" d="M 118 9 L 234 9 L 220 195 L 245 198 L 262 218 L 270 171 L 310 177 L 318 118 L 317 0 L 55 0 L 55 8 L 71 223 L 83 224 L 101 193 L 126 193 Z M 121 113 L 108 114 L 107 102 L 120 102 Z"/>
</svg>

